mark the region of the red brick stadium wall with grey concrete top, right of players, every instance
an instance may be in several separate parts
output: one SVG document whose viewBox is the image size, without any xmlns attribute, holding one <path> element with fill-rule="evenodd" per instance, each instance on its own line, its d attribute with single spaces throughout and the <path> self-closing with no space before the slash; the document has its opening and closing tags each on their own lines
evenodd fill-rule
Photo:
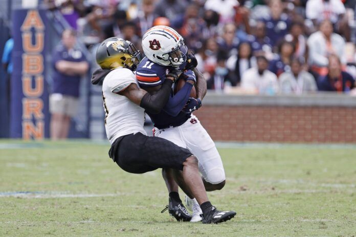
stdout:
<svg viewBox="0 0 356 237">
<path fill-rule="evenodd" d="M 356 143 L 356 98 L 208 93 L 194 114 L 215 141 Z"/>
</svg>

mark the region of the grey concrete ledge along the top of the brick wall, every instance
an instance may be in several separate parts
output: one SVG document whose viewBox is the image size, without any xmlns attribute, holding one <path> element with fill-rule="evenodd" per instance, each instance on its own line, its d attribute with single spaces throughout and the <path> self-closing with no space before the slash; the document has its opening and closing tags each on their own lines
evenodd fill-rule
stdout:
<svg viewBox="0 0 356 237">
<path fill-rule="evenodd" d="M 308 95 L 229 95 L 208 92 L 204 105 L 251 105 L 251 106 L 319 106 L 356 107 L 356 97 L 337 93 L 317 93 Z"/>
</svg>

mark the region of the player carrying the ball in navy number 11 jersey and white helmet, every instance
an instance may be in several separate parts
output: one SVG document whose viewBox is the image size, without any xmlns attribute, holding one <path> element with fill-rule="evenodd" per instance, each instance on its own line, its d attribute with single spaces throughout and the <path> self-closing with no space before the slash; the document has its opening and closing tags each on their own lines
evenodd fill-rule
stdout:
<svg viewBox="0 0 356 237">
<path fill-rule="evenodd" d="M 164 81 L 164 72 L 170 68 L 180 67 L 186 70 L 185 80 L 187 83 L 174 97 L 179 97 L 178 93 L 188 90 L 189 82 L 192 81 L 196 84 L 197 91 L 196 99 L 188 98 L 190 92 L 187 97 L 182 96 L 183 105 L 173 104 L 171 107 L 174 110 L 166 105 L 159 114 L 147 112 L 154 122 L 154 136 L 167 139 L 190 150 L 198 159 L 199 171 L 202 173 L 206 190 L 221 189 L 225 185 L 225 170 L 220 155 L 205 128 L 191 113 L 202 105 L 201 100 L 207 91 L 204 76 L 195 69 L 197 62 L 194 55 L 187 53 L 183 37 L 174 29 L 166 26 L 150 28 L 142 38 L 142 48 L 146 57 L 140 62 L 136 71 L 136 78 L 141 88 L 149 92 L 157 91 Z M 173 60 L 171 55 L 175 55 L 177 50 L 181 50 L 183 53 L 180 54 L 179 60 Z M 180 80 L 182 79 L 183 77 L 180 78 Z M 189 102 L 187 103 L 187 101 Z M 169 169 L 164 169 L 162 172 L 169 191 L 169 204 L 171 202 L 179 203 L 181 199 L 178 194 L 178 185 L 170 182 L 172 180 L 170 173 Z M 193 197 L 189 198 L 188 193 L 186 194 L 186 205 L 193 211 L 191 221 L 201 221 L 201 210 L 198 203 Z"/>
</svg>

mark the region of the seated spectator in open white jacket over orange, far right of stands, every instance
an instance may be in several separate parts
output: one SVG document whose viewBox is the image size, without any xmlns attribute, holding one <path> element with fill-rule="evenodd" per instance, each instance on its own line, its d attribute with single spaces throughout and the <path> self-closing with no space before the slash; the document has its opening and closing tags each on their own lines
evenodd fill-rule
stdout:
<svg viewBox="0 0 356 237">
<path fill-rule="evenodd" d="M 320 24 L 320 30 L 311 34 L 307 44 L 309 49 L 308 63 L 311 71 L 319 75 L 326 75 L 328 59 L 330 54 L 336 54 L 345 63 L 344 50 L 345 40 L 338 34 L 332 32 L 332 25 L 329 20 L 324 20 Z"/>
</svg>

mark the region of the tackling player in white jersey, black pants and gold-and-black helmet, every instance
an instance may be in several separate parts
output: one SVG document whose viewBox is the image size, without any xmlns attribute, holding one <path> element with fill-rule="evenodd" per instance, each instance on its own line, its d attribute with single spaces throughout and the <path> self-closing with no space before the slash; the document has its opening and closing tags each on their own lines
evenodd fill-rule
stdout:
<svg viewBox="0 0 356 237">
<path fill-rule="evenodd" d="M 140 59 L 140 52 L 129 41 L 116 37 L 104 40 L 96 53 L 101 69 L 94 72 L 92 83 L 102 84 L 105 129 L 111 143 L 109 157 L 133 174 L 158 168 L 172 169 L 177 183 L 183 182 L 201 206 L 203 223 L 230 220 L 236 215 L 235 211 L 219 211 L 209 202 L 196 157 L 188 149 L 166 139 L 146 136 L 144 111 L 161 112 L 173 82 L 182 71 L 169 71 L 161 89 L 150 94 L 140 89 L 132 72 Z"/>
</svg>

